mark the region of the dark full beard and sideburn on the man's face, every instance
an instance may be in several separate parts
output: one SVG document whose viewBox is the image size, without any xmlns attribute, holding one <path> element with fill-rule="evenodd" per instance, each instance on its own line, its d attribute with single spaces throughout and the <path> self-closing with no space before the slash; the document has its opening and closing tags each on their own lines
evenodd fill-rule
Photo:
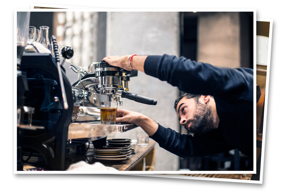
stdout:
<svg viewBox="0 0 289 193">
<path fill-rule="evenodd" d="M 215 129 L 213 124 L 213 114 L 210 106 L 197 103 L 196 101 L 196 113 L 192 119 L 188 119 L 185 122 L 185 126 L 191 123 L 188 131 L 196 135 L 204 135 L 209 131 Z"/>
</svg>

